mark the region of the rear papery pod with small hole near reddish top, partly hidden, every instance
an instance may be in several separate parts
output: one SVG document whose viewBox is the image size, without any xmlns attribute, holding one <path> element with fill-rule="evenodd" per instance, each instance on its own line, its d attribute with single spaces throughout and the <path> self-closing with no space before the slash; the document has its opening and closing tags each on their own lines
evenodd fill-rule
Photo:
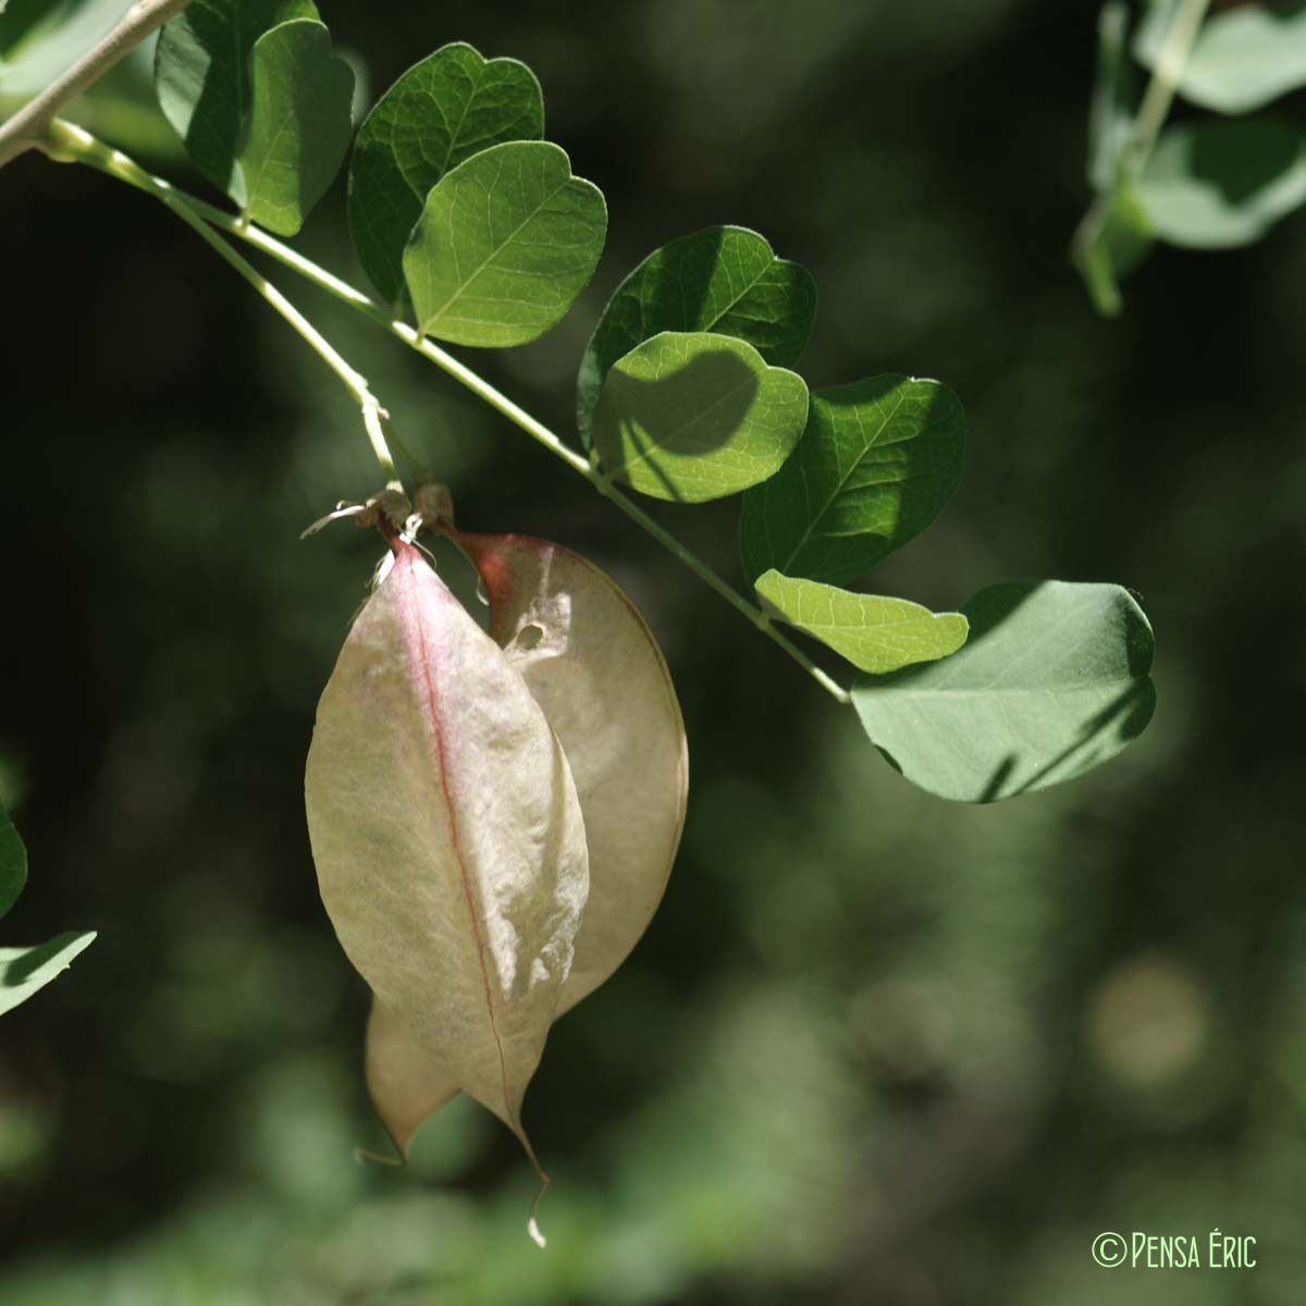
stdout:
<svg viewBox="0 0 1306 1306">
<path fill-rule="evenodd" d="M 589 842 L 589 900 L 558 1015 L 593 993 L 648 927 L 684 825 L 688 755 L 657 641 L 613 579 L 530 535 L 447 532 L 481 573 L 490 627 L 562 742 Z M 457 1091 L 452 1070 L 381 1004 L 367 1034 L 368 1088 L 401 1155 Z"/>
</svg>

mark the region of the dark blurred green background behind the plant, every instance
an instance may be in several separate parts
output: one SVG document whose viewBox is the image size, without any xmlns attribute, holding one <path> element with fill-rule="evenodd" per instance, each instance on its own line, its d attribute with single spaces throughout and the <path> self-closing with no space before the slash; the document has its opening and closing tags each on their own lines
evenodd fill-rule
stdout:
<svg viewBox="0 0 1306 1306">
<path fill-rule="evenodd" d="M 1298 1303 L 1306 1280 L 1306 218 L 1160 251 L 1102 321 L 1092 3 L 323 5 L 371 98 L 448 40 L 538 73 L 611 210 L 592 287 L 473 362 L 573 431 L 606 295 L 714 222 L 815 273 L 801 364 L 966 406 L 963 488 L 875 576 L 935 606 L 1113 580 L 1160 708 L 1101 772 L 996 807 L 908 786 L 802 671 L 564 466 L 290 273 L 460 522 L 609 568 L 662 640 L 693 784 L 661 913 L 554 1030 L 554 1175 L 457 1101 L 364 1168 L 362 982 L 308 855 L 313 708 L 380 546 L 349 402 L 162 206 L 0 176 L 7 943 L 99 930 L 0 1028 L 0 1303 Z M 1280 106 L 1302 118 L 1301 104 Z M 1179 114 L 1185 114 L 1179 110 Z M 77 115 L 74 115 L 77 116 Z M 84 119 L 204 191 L 137 60 Z M 366 283 L 337 188 L 300 246 Z M 470 357 L 470 354 L 465 354 Z M 733 577 L 737 505 L 666 508 Z M 1102 1269 L 1102 1230 L 1259 1239 L 1245 1271 Z"/>
</svg>

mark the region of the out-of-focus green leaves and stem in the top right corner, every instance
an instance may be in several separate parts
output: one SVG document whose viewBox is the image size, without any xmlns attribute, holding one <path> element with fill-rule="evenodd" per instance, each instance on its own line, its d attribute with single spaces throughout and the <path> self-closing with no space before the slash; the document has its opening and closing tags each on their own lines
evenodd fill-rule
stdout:
<svg viewBox="0 0 1306 1306">
<path fill-rule="evenodd" d="M 1097 30 L 1094 199 L 1071 248 L 1098 312 L 1114 316 L 1118 278 L 1153 240 L 1235 248 L 1306 202 L 1301 128 L 1247 114 L 1306 85 L 1306 0 L 1106 0 Z M 1135 60 L 1151 69 L 1145 91 Z M 1165 127 L 1174 94 L 1233 116 Z"/>
</svg>

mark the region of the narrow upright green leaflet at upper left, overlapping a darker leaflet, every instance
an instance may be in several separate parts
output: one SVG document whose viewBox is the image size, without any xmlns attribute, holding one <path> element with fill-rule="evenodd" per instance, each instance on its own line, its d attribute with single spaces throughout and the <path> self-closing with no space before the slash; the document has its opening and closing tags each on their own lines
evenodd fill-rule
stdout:
<svg viewBox="0 0 1306 1306">
<path fill-rule="evenodd" d="M 330 33 L 283 22 L 253 47 L 253 98 L 240 150 L 246 212 L 294 235 L 340 171 L 353 135 L 354 73 L 332 57 Z"/>
</svg>

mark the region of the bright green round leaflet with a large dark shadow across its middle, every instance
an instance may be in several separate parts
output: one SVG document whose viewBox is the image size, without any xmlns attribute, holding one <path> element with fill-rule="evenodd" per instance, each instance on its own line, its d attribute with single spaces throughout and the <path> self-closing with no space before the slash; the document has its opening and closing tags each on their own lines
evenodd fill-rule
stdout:
<svg viewBox="0 0 1306 1306">
<path fill-rule="evenodd" d="M 741 340 L 663 332 L 618 362 L 594 413 L 594 449 L 618 481 L 704 503 L 774 475 L 807 421 L 807 387 Z"/>
</svg>

